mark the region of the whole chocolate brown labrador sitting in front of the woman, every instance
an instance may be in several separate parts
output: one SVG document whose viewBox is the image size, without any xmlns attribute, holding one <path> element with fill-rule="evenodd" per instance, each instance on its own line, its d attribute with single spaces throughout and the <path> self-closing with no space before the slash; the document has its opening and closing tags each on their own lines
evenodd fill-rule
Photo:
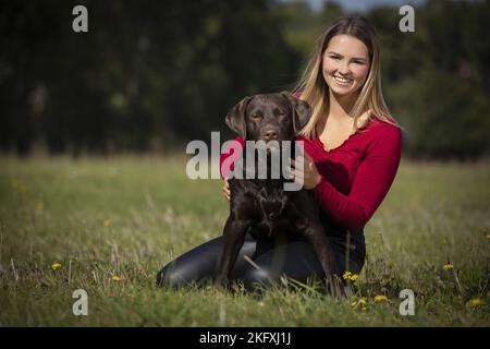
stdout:
<svg viewBox="0 0 490 349">
<path fill-rule="evenodd" d="M 289 93 L 265 94 L 246 97 L 234 106 L 226 115 L 228 127 L 245 141 L 264 141 L 267 144 L 279 144 L 282 141 L 294 142 L 298 131 L 310 118 L 307 103 L 293 97 Z M 254 143 L 252 143 L 254 144 Z M 246 142 L 243 157 L 250 142 Z M 264 164 L 269 164 L 270 148 L 266 161 L 255 159 L 255 174 Z M 248 164 L 245 163 L 246 171 Z M 237 176 L 243 174 L 243 176 Z M 328 244 L 326 231 L 319 219 L 319 208 L 313 194 L 304 189 L 285 191 L 289 181 L 283 174 L 273 179 L 267 170 L 267 178 L 249 178 L 237 173 L 229 180 L 231 200 L 230 216 L 223 231 L 223 251 L 215 278 L 215 286 L 223 287 L 230 270 L 236 262 L 237 254 L 244 243 L 249 228 L 250 233 L 268 238 L 278 234 L 299 234 L 309 242 L 317 254 L 326 276 L 327 289 L 338 294 L 343 293 L 340 287 L 339 270 L 333 253 Z M 249 177 L 249 176 L 248 176 Z M 243 178 L 243 179 L 240 179 Z"/>
</svg>

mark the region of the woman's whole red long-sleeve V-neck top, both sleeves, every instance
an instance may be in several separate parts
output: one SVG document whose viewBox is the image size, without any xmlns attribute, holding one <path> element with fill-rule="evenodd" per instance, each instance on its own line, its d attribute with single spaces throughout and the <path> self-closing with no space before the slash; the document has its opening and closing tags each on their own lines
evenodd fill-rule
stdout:
<svg viewBox="0 0 490 349">
<path fill-rule="evenodd" d="M 401 158 L 400 128 L 371 119 L 330 152 L 324 149 L 318 136 L 313 140 L 298 136 L 297 140 L 304 141 L 305 152 L 321 176 L 314 189 L 321 213 L 345 229 L 360 231 L 395 178 Z M 244 145 L 241 136 L 236 141 Z M 230 151 L 221 154 L 220 168 L 232 155 Z M 221 173 L 223 178 L 228 174 L 224 170 Z"/>
</svg>

